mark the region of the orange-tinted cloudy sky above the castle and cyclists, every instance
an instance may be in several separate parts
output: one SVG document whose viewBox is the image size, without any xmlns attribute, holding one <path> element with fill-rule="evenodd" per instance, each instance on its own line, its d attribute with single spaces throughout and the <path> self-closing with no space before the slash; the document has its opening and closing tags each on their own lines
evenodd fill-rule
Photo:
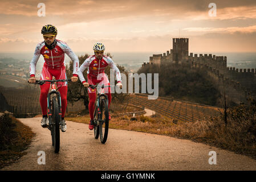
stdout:
<svg viewBox="0 0 256 182">
<path fill-rule="evenodd" d="M 178 37 L 189 38 L 189 52 L 256 52 L 255 0 L 9 0 L 0 2 L 0 23 L 0 52 L 34 51 L 44 24 L 76 52 L 95 42 L 108 52 L 165 52 Z"/>
</svg>

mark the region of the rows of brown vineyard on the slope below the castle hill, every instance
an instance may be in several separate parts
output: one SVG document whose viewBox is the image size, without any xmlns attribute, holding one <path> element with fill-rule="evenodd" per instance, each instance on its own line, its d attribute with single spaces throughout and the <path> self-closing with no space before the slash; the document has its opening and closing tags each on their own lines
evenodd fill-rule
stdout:
<svg viewBox="0 0 256 182">
<path fill-rule="evenodd" d="M 176 121 L 202 121 L 216 117 L 220 114 L 217 107 L 194 104 L 191 102 L 173 101 L 159 97 L 156 100 L 148 100 L 146 94 L 131 94 L 129 102 L 134 105 L 147 107 L 156 113 L 175 119 Z"/>
</svg>

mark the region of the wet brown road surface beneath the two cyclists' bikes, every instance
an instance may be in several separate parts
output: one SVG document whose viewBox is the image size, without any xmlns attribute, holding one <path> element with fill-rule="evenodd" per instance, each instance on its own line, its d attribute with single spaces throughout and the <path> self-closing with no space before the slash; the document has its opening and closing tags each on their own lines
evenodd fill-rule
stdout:
<svg viewBox="0 0 256 182">
<path fill-rule="evenodd" d="M 55 154 L 40 118 L 20 120 L 36 137 L 27 155 L 2 170 L 256 170 L 256 160 L 247 156 L 161 135 L 110 129 L 107 143 L 101 144 L 88 125 L 68 121 Z M 45 165 L 38 164 L 38 151 L 46 153 Z M 216 151 L 216 165 L 208 163 L 209 151 Z"/>
</svg>

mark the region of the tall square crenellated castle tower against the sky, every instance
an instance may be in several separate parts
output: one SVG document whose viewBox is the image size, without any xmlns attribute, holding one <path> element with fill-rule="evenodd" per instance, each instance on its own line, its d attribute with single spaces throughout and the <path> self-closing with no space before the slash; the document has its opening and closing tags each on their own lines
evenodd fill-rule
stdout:
<svg viewBox="0 0 256 182">
<path fill-rule="evenodd" d="M 188 60 L 189 54 L 189 39 L 188 38 L 173 38 L 173 61 L 181 63 Z"/>
</svg>

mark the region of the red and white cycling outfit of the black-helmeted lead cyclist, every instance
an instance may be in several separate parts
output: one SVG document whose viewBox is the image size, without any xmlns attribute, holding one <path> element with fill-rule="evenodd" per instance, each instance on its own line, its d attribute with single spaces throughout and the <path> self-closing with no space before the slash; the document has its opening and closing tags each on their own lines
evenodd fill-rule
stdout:
<svg viewBox="0 0 256 182">
<path fill-rule="evenodd" d="M 52 76 L 54 76 L 56 80 L 66 79 L 67 76 L 64 63 L 65 53 L 73 61 L 73 76 L 78 76 L 78 56 L 76 56 L 70 47 L 68 47 L 67 43 L 56 40 L 56 45 L 53 49 L 47 48 L 44 42 L 37 44 L 34 56 L 32 57 L 29 65 L 30 77 L 35 76 L 36 63 L 40 55 L 43 55 L 44 64 L 40 80 L 52 80 Z M 67 109 L 67 82 L 58 82 L 58 86 L 60 86 L 59 92 L 62 103 L 62 117 L 64 117 Z M 47 94 L 49 92 L 49 88 L 50 84 L 40 85 L 41 90 L 39 101 L 43 115 L 47 115 Z"/>
</svg>

